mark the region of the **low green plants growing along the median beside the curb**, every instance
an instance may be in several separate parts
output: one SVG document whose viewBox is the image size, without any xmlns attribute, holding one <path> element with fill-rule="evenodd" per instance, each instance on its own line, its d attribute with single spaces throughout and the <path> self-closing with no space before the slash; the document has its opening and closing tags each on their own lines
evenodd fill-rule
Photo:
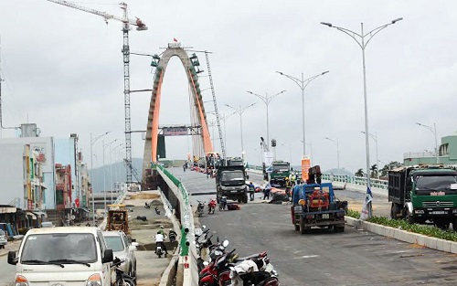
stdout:
<svg viewBox="0 0 457 286">
<path fill-rule="evenodd" d="M 349 209 L 347 211 L 348 217 L 360 218 L 360 213 Z M 403 219 L 391 219 L 388 217 L 371 217 L 367 219 L 367 221 L 371 223 L 375 223 L 377 225 L 386 226 L 390 228 L 400 228 L 409 232 L 419 233 L 424 236 L 428 236 L 431 238 L 441 238 L 445 240 L 457 241 L 457 232 L 452 230 L 444 230 L 437 227 L 431 227 L 426 225 L 419 225 L 419 224 L 409 224 L 408 221 Z"/>
</svg>

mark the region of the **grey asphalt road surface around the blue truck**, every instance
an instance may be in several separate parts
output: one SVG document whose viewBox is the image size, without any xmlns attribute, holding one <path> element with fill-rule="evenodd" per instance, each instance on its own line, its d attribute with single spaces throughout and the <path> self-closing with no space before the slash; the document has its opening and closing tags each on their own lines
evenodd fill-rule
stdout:
<svg viewBox="0 0 457 286">
<path fill-rule="evenodd" d="M 214 187 L 214 179 L 205 175 L 183 174 L 177 168 L 173 172 L 189 193 Z M 336 196 L 349 202 L 359 199 L 356 192 L 337 191 Z M 451 253 L 348 226 L 344 233 L 313 228 L 310 234 L 301 235 L 292 226 L 289 205 L 260 201 L 236 211 L 217 210 L 199 221 L 215 233 L 214 238 L 227 238 L 228 249 L 237 249 L 241 257 L 267 250 L 282 285 L 457 284 L 457 257 Z"/>
</svg>

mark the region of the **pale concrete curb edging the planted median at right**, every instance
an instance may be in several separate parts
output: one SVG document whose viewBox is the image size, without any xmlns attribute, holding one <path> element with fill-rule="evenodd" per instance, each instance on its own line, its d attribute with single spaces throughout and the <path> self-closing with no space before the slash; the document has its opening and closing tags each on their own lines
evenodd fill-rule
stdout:
<svg viewBox="0 0 457 286">
<path fill-rule="evenodd" d="M 430 238 L 419 233 L 413 233 L 399 228 L 385 227 L 354 217 L 345 217 L 345 224 L 357 229 L 363 229 L 376 233 L 383 237 L 395 238 L 400 241 L 417 244 L 429 249 L 437 249 L 457 254 L 457 242 L 451 240 Z"/>
</svg>

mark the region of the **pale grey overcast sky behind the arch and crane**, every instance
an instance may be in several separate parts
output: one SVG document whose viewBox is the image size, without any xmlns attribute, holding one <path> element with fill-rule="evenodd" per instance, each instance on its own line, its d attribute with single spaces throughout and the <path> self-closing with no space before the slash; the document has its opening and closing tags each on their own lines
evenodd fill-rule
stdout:
<svg viewBox="0 0 457 286">
<path fill-rule="evenodd" d="M 79 2 L 122 16 L 115 2 Z M 302 90 L 275 73 L 310 78 L 325 70 L 305 89 L 306 151 L 324 170 L 339 164 L 356 172 L 366 168 L 362 50 L 353 38 L 320 22 L 360 33 L 388 24 L 366 49 L 370 160 L 403 161 L 407 152 L 432 151 L 433 127 L 442 136 L 457 131 L 457 2 L 447 1 L 269 1 L 196 0 L 128 2 L 129 16 L 149 27 L 132 30 L 132 52 L 160 54 L 178 39 L 184 47 L 208 50 L 218 110 L 225 104 L 246 106 L 243 142 L 246 159 L 260 162 L 260 136 L 266 138 L 266 106 L 247 90 L 260 95 L 286 92 L 271 101 L 270 139 L 278 142 L 278 159 L 299 164 L 303 153 Z M 112 147 L 124 142 L 122 23 L 106 25 L 91 15 L 46 0 L 0 1 L 3 124 L 34 122 L 40 136 L 80 136 L 80 148 L 90 162 L 90 133 L 103 132 Z M 207 75 L 205 54 L 197 53 Z M 148 57 L 132 56 L 131 90 L 150 89 L 153 69 Z M 166 69 L 160 123 L 189 124 L 186 74 L 178 58 Z M 207 77 L 201 89 L 209 88 Z M 207 111 L 213 111 L 210 90 L 203 91 Z M 145 130 L 151 94 L 133 93 L 132 130 Z M 214 118 L 208 115 L 208 119 Z M 230 116 L 228 155 L 241 152 L 239 115 Z M 224 128 L 224 125 L 222 126 Z M 217 129 L 214 129 L 218 137 Z M 210 128 L 211 132 L 211 128 Z M 3 130 L 3 137 L 14 136 Z M 133 157 L 143 157 L 143 141 L 133 133 Z M 167 137 L 167 157 L 186 158 L 186 137 Z M 94 166 L 102 164 L 102 139 L 93 148 Z M 216 150 L 220 150 L 218 139 Z M 377 148 L 376 148 L 377 147 Z M 121 150 L 122 146 L 117 148 Z M 119 160 L 117 151 L 112 161 Z M 106 148 L 105 162 L 109 162 Z M 380 164 L 381 166 L 384 164 Z"/>
</svg>

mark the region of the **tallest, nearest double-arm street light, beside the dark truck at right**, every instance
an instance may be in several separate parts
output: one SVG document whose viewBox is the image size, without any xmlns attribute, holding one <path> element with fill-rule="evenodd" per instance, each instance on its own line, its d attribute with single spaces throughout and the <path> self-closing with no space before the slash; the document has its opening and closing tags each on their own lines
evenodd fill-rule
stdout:
<svg viewBox="0 0 457 286">
<path fill-rule="evenodd" d="M 378 26 L 377 28 L 372 29 L 369 31 L 367 34 L 364 33 L 364 23 L 360 23 L 361 26 L 361 33 L 357 34 L 354 31 L 351 31 L 349 29 L 346 29 L 341 26 L 334 26 L 331 23 L 325 23 L 321 22 L 322 25 L 325 26 L 330 26 L 330 27 L 335 27 L 335 29 L 345 33 L 347 36 L 352 37 L 358 47 L 362 49 L 362 65 L 363 65 L 363 73 L 364 73 L 364 100 L 365 100 L 365 144 L 366 144 L 366 151 L 367 151 L 367 191 L 369 188 L 371 188 L 371 182 L 370 182 L 370 176 L 369 176 L 369 171 L 370 171 L 370 157 L 369 157 L 369 140 L 368 140 L 368 103 L 367 103 L 367 72 L 365 68 L 365 48 L 367 48 L 367 45 L 369 41 L 377 35 L 381 30 L 385 29 L 386 27 L 393 25 L 399 21 L 403 20 L 403 18 L 397 18 L 395 20 L 390 21 L 390 23 Z M 371 217 L 372 214 L 372 206 L 371 206 L 371 201 L 368 203 L 368 217 Z"/>
</svg>

